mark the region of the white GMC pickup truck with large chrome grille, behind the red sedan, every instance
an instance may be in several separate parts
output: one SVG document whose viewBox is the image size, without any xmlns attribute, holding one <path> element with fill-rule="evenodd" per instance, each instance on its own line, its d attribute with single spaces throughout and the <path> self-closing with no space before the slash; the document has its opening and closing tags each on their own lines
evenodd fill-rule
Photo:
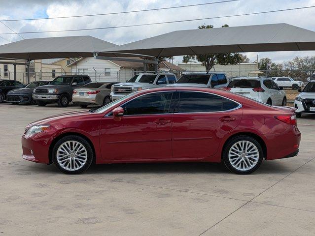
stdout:
<svg viewBox="0 0 315 236">
<path fill-rule="evenodd" d="M 176 75 L 172 73 L 141 73 L 135 75 L 126 83 L 113 85 L 110 91 L 110 99 L 114 101 L 135 91 L 175 84 L 176 81 Z"/>
</svg>

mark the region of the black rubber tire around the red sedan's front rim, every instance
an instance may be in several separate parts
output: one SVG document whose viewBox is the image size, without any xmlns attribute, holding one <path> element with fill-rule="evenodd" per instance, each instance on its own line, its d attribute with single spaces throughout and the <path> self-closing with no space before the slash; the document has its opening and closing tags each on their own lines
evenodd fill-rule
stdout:
<svg viewBox="0 0 315 236">
<path fill-rule="evenodd" d="M 85 164 L 78 170 L 66 170 L 64 169 L 57 161 L 57 150 L 58 148 L 64 144 L 67 141 L 76 141 L 79 142 L 80 144 L 82 144 L 84 146 L 84 148 L 87 151 L 87 160 L 85 162 Z M 52 161 L 53 164 L 63 173 L 69 174 L 69 175 L 76 175 L 76 174 L 80 174 L 84 171 L 86 171 L 92 164 L 93 162 L 93 150 L 91 145 L 89 144 L 89 142 L 87 142 L 84 138 L 77 136 L 77 135 L 69 135 L 66 137 L 61 138 L 60 140 L 57 141 L 57 143 L 55 144 L 54 148 L 52 149 Z M 73 161 L 75 162 L 75 160 Z M 72 163 L 73 163 L 72 162 Z"/>
</svg>

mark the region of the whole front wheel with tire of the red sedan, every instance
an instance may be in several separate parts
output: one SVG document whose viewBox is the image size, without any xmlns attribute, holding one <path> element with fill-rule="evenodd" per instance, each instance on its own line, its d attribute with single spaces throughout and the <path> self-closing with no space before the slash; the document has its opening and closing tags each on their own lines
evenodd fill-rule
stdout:
<svg viewBox="0 0 315 236">
<path fill-rule="evenodd" d="M 61 138 L 52 151 L 54 165 L 66 174 L 80 174 L 93 161 L 91 145 L 82 137 L 69 135 Z"/>
</svg>

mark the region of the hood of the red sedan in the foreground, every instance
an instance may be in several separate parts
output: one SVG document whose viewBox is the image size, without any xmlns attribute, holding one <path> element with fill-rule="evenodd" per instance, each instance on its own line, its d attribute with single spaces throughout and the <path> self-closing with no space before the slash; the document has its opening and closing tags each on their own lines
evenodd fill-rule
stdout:
<svg viewBox="0 0 315 236">
<path fill-rule="evenodd" d="M 80 118 L 83 118 L 84 116 L 90 115 L 93 113 L 90 113 L 89 111 L 80 111 L 80 112 L 68 112 L 63 113 L 60 115 L 47 117 L 43 119 L 36 120 L 32 123 L 30 123 L 28 126 L 34 126 L 34 125 L 43 125 L 43 124 L 53 124 L 59 121 L 65 122 L 66 119 L 73 119 L 73 120 L 79 120 Z"/>
</svg>

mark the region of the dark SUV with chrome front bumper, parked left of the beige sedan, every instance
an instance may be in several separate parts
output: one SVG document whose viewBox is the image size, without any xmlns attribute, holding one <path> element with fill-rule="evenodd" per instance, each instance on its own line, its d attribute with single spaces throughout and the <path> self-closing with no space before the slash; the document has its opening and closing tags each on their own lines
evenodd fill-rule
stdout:
<svg viewBox="0 0 315 236">
<path fill-rule="evenodd" d="M 33 99 L 38 106 L 47 103 L 58 103 L 60 107 L 67 107 L 72 100 L 73 89 L 92 82 L 87 75 L 62 75 L 56 77 L 49 85 L 34 89 Z"/>
</svg>

